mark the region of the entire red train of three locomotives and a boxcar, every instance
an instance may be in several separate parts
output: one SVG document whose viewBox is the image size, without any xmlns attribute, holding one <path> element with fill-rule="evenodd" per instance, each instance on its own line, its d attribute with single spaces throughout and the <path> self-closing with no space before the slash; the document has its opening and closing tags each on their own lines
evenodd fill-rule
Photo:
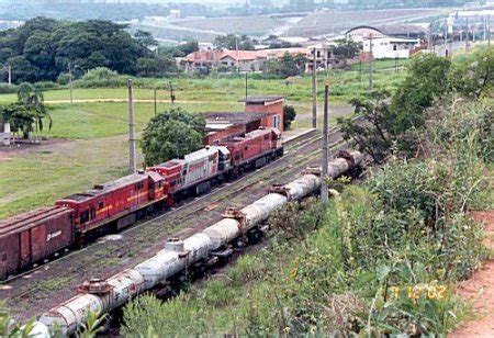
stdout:
<svg viewBox="0 0 494 338">
<path fill-rule="evenodd" d="M 0 280 L 281 155 L 281 133 L 261 128 L 0 221 Z"/>
</svg>

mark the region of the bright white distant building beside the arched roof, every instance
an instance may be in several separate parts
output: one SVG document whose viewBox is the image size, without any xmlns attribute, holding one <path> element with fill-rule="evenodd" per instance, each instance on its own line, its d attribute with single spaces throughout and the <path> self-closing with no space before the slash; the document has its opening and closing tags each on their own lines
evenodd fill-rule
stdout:
<svg viewBox="0 0 494 338">
<path fill-rule="evenodd" d="M 372 41 L 372 55 L 374 59 L 380 58 L 408 58 L 411 50 L 420 45 L 418 38 L 401 38 L 401 37 L 378 37 L 364 40 L 362 42 L 363 53 L 370 53 L 370 43 Z"/>
</svg>

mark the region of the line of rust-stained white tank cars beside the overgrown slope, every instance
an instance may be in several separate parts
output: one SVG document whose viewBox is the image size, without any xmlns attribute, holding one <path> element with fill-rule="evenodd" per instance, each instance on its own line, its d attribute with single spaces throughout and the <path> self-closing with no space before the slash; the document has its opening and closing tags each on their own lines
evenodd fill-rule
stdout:
<svg viewBox="0 0 494 338">
<path fill-rule="evenodd" d="M 362 159 L 358 151 L 345 153 L 328 164 L 328 176 L 341 176 Z M 321 183 L 321 169 L 306 170 L 301 178 L 272 187 L 270 193 L 242 210 L 227 209 L 222 221 L 184 240 L 169 240 L 150 259 L 106 280 L 85 282 L 75 297 L 42 315 L 35 329 L 50 334 L 58 329 L 63 336 L 70 335 L 86 323 L 90 312 L 109 313 L 146 290 L 160 289 L 186 271 L 227 256 L 233 243 L 257 237 L 274 209 L 314 193 Z"/>
</svg>

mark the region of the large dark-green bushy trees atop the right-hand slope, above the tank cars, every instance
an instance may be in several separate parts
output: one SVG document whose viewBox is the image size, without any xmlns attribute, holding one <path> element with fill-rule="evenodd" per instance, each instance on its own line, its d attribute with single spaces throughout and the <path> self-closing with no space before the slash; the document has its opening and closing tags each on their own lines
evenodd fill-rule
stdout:
<svg viewBox="0 0 494 338">
<path fill-rule="evenodd" d="M 353 117 L 361 119 L 338 119 L 344 137 L 351 139 L 378 164 L 382 162 L 391 149 L 407 157 L 418 155 L 424 150 L 419 142 L 420 131 L 428 120 L 434 120 L 445 109 L 435 103 L 436 100 L 451 93 L 476 100 L 492 88 L 493 52 L 494 48 L 480 49 L 469 60 L 453 65 L 449 59 L 434 55 L 414 59 L 405 81 L 398 86 L 391 99 L 389 93 L 383 94 L 381 91 L 369 93 L 363 99 L 350 100 L 355 106 Z M 482 142 L 484 151 L 487 151 L 486 147 L 492 145 L 492 136 L 489 136 L 492 129 L 491 110 L 484 108 L 483 115 Z M 441 129 L 440 123 L 435 125 Z"/>
</svg>

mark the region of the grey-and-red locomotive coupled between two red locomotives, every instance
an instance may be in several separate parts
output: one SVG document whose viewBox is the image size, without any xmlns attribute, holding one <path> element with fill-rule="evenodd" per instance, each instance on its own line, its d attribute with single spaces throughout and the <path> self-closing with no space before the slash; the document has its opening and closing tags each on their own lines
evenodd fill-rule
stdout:
<svg viewBox="0 0 494 338">
<path fill-rule="evenodd" d="M 210 190 L 213 180 L 231 168 L 229 151 L 225 147 L 211 146 L 148 168 L 158 172 L 169 184 L 169 193 L 177 200 L 189 193 L 200 194 Z"/>
</svg>

